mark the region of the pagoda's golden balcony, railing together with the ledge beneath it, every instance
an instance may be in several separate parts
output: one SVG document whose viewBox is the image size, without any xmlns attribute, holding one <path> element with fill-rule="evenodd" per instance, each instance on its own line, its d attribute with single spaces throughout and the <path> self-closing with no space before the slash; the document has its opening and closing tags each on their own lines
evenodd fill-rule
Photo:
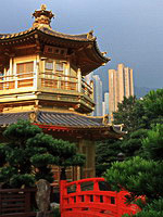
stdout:
<svg viewBox="0 0 163 217">
<path fill-rule="evenodd" d="M 93 89 L 82 77 L 51 72 L 28 72 L 0 76 L 0 98 L 5 102 L 10 95 L 41 92 L 54 95 L 76 95 L 78 103 L 93 106 Z M 8 95 L 8 97 L 7 97 Z M 79 97 L 79 98 L 78 98 Z M 8 99 L 7 99 L 8 98 Z M 33 97 L 34 98 L 34 97 Z"/>
</svg>

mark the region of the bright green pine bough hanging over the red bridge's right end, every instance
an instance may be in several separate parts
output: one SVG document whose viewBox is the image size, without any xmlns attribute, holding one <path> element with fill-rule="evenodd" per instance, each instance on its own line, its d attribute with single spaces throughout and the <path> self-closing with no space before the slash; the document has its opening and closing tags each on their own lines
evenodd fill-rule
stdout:
<svg viewBox="0 0 163 217">
<path fill-rule="evenodd" d="M 122 163 L 113 163 L 104 176 L 113 190 L 124 188 L 131 192 L 131 200 L 139 195 L 153 200 L 163 196 L 162 168 L 163 163 L 136 156 Z"/>
</svg>

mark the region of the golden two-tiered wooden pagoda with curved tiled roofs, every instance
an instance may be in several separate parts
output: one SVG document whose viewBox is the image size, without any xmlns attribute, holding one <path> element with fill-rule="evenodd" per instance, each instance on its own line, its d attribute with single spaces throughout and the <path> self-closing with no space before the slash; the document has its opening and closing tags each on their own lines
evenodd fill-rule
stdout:
<svg viewBox="0 0 163 217">
<path fill-rule="evenodd" d="M 95 177 L 95 141 L 123 136 L 108 116 L 91 117 L 93 85 L 85 76 L 106 64 L 92 30 L 67 35 L 50 26 L 45 4 L 33 14 L 33 27 L 0 34 L 0 126 L 29 119 L 54 138 L 75 142 L 86 166 L 71 169 L 73 179 Z"/>
</svg>

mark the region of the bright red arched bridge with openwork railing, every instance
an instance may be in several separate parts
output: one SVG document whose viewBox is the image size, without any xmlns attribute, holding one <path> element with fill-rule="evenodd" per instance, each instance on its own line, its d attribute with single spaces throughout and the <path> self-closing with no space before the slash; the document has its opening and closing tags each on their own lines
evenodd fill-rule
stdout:
<svg viewBox="0 0 163 217">
<path fill-rule="evenodd" d="M 136 204 L 125 204 L 127 191 L 109 191 L 103 178 L 61 181 L 61 217 L 121 217 L 136 214 Z"/>
</svg>

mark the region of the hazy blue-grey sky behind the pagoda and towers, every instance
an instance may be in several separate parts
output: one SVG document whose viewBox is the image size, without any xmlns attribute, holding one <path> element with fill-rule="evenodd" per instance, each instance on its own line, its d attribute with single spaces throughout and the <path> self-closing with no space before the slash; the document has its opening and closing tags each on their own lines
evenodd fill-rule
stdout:
<svg viewBox="0 0 163 217">
<path fill-rule="evenodd" d="M 112 59 L 99 68 L 102 78 L 124 63 L 134 68 L 136 86 L 163 87 L 163 0 L 0 0 L 0 34 L 32 27 L 41 3 L 55 14 L 54 30 L 95 30 L 100 50 Z"/>
</svg>

